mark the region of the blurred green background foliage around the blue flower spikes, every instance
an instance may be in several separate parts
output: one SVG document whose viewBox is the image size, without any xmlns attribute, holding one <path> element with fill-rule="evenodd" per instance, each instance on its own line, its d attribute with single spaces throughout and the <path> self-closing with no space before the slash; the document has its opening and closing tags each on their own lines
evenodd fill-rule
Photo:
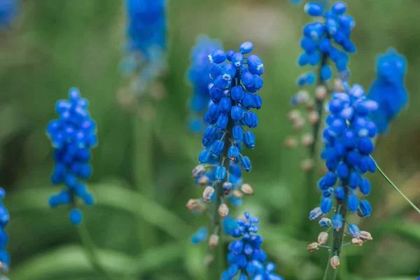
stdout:
<svg viewBox="0 0 420 280">
<path fill-rule="evenodd" d="M 374 158 L 419 205 L 419 2 L 347 3 L 356 19 L 352 38 L 358 47 L 351 56 L 352 83 L 367 89 L 375 76 L 375 55 L 389 46 L 407 57 L 409 106 L 381 139 Z M 198 34 L 221 39 L 225 49 L 252 41 L 265 62 L 257 146 L 248 152 L 253 172 L 244 175 L 255 195 L 246 197 L 243 207 L 231 208 L 232 214 L 246 210 L 259 216 L 263 246 L 278 274 L 288 280 L 321 279 L 328 253 L 308 253 L 306 248 L 320 230 L 307 218 L 319 195 L 300 169 L 306 151 L 283 148 L 284 139 L 293 134 L 286 114 L 297 91 L 295 78 L 304 71 L 296 59 L 309 18 L 302 6 L 286 0 L 172 0 L 168 12 L 166 94 L 145 103 L 146 125 L 118 99 L 118 91 L 127 86 L 118 73 L 125 38 L 123 1 L 21 1 L 13 28 L 0 34 L 0 184 L 8 192 L 4 203 L 11 216 L 6 228 L 11 280 L 104 279 L 87 261 L 66 217 L 68 209 L 49 209 L 47 203 L 59 188 L 50 185 L 52 148 L 45 126 L 56 118 L 55 102 L 66 98 L 70 87 L 90 100 L 99 128 L 89 183 L 97 204 L 83 207 L 83 213 L 106 269 L 137 275 L 127 279 L 206 279 L 206 244 L 193 246 L 189 238 L 207 225 L 207 217 L 185 207 L 202 192 L 190 178 L 201 137 L 188 130 L 186 106 L 191 94 L 186 69 Z M 370 180 L 373 214 L 355 221 L 374 241 L 346 247 L 339 279 L 416 279 L 419 215 L 379 173 Z"/>
</svg>

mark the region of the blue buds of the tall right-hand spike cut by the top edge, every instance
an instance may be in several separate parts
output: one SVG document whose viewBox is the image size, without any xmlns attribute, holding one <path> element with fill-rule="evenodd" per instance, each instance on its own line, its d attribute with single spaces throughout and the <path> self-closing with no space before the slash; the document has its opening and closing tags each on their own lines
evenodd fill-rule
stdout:
<svg viewBox="0 0 420 280">
<path fill-rule="evenodd" d="M 323 17 L 324 20 L 308 23 L 303 28 L 303 38 L 300 46 L 304 50 L 298 59 L 300 66 L 321 64 L 321 79 L 329 80 L 332 77 L 332 69 L 328 65 L 328 58 L 335 62 L 335 66 L 341 78 L 346 78 L 349 71 L 348 53 L 356 52 L 356 46 L 350 39 L 351 29 L 355 21 L 346 15 L 346 4 L 337 1 L 330 10 L 325 10 L 322 3 L 308 2 L 304 10 L 312 17 Z M 336 45 L 336 46 L 335 46 Z M 299 85 L 311 84 L 314 82 L 312 76 L 304 74 L 297 79 Z"/>
</svg>

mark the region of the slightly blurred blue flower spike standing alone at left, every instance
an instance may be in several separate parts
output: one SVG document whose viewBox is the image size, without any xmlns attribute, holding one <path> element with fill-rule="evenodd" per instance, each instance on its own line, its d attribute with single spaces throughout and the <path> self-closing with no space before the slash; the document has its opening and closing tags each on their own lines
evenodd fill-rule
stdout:
<svg viewBox="0 0 420 280">
<path fill-rule="evenodd" d="M 69 100 L 59 100 L 55 105 L 59 118 L 51 120 L 46 130 L 55 149 L 51 183 L 67 187 L 50 197 L 50 207 L 70 204 L 72 209 L 69 219 L 75 225 L 82 221 L 82 213 L 76 208 L 76 197 L 80 197 L 87 205 L 94 203 L 92 194 L 87 192 L 82 182 L 92 175 L 90 149 L 98 141 L 96 123 L 90 118 L 87 106 L 87 99 L 80 97 L 76 88 L 71 88 Z"/>
</svg>

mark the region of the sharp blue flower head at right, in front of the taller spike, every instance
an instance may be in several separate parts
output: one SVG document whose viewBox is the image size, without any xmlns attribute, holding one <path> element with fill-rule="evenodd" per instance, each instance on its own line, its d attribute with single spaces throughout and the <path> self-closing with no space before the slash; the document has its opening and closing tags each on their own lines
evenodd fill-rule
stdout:
<svg viewBox="0 0 420 280">
<path fill-rule="evenodd" d="M 329 115 L 323 131 L 325 148 L 321 157 L 328 172 L 318 182 L 323 198 L 321 206 L 311 211 L 311 220 L 331 211 L 332 196 L 337 202 L 346 200 L 349 211 L 358 216 L 370 216 L 372 211 L 367 200 L 359 200 L 356 190 L 362 195 L 370 193 L 370 182 L 362 176 L 376 169 L 370 154 L 374 150 L 371 138 L 377 134 L 377 127 L 369 116 L 378 105 L 365 97 L 360 85 L 349 88 L 344 82 L 344 89 L 345 92 L 333 93 L 327 104 Z M 332 225 L 335 230 L 342 228 L 342 216 L 335 214 Z"/>
</svg>

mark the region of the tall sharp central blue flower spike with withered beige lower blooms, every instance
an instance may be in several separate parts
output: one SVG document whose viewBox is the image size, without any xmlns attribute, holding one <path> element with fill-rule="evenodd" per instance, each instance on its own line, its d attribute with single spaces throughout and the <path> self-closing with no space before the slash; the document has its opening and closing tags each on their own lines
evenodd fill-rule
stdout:
<svg viewBox="0 0 420 280">
<path fill-rule="evenodd" d="M 228 202 L 240 205 L 244 195 L 253 194 L 253 188 L 242 181 L 242 171 L 251 172 L 251 160 L 244 155 L 242 145 L 255 146 L 255 136 L 249 129 L 258 126 L 258 116 L 252 109 L 262 106 L 256 92 L 262 88 L 264 66 L 260 57 L 248 55 L 252 50 L 253 44 L 245 42 L 239 52 L 218 48 L 208 55 L 213 64 L 207 73 L 212 80 L 211 102 L 204 114 L 208 126 L 202 138 L 204 149 L 198 157 L 200 165 L 193 169 L 195 183 L 204 187 L 204 191 L 202 198 L 189 200 L 187 207 L 202 213 L 207 210 L 207 203 L 216 204 L 208 207 L 214 209 L 209 235 L 218 236 L 221 228 L 235 227 L 228 216 Z M 223 218 L 223 224 L 233 226 L 222 227 L 219 217 Z M 198 236 L 203 240 L 206 237 Z"/>
</svg>

